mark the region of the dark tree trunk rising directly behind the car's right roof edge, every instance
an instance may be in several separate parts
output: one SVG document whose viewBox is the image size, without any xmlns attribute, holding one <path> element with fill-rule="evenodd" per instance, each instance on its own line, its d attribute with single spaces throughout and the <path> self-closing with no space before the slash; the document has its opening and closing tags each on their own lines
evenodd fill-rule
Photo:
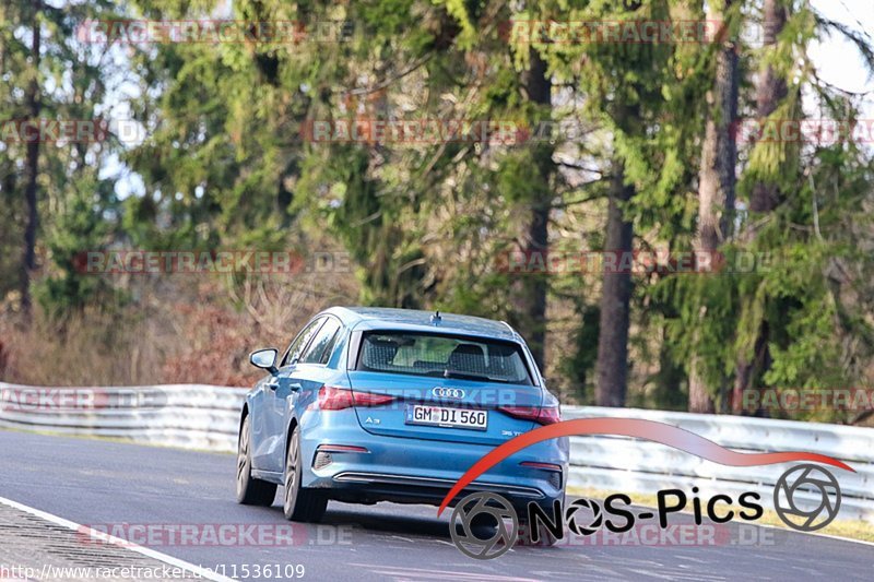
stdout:
<svg viewBox="0 0 874 582">
<path fill-rule="evenodd" d="M 536 50 L 531 49 L 531 68 L 523 74 L 524 90 L 528 99 L 548 110 L 552 104 L 552 80 L 546 63 Z M 545 257 L 550 246 L 550 211 L 552 209 L 552 175 L 555 169 L 553 146 L 548 143 L 532 145 L 532 170 L 538 179 L 534 183 L 539 190 L 529 198 L 530 210 L 524 233 L 522 252 L 525 257 L 541 254 Z M 522 276 L 517 286 L 515 305 L 518 309 L 520 332 L 529 342 L 534 359 L 543 369 L 544 345 L 546 340 L 546 294 L 548 290 L 547 273 L 531 273 Z"/>
</svg>

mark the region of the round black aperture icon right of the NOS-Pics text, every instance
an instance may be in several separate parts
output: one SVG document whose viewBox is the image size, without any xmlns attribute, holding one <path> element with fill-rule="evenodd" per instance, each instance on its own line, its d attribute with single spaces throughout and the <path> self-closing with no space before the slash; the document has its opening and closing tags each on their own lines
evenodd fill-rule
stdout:
<svg viewBox="0 0 874 582">
<path fill-rule="evenodd" d="M 773 509 L 783 523 L 794 530 L 822 530 L 840 509 L 838 479 L 818 465 L 792 467 L 773 487 Z"/>
</svg>

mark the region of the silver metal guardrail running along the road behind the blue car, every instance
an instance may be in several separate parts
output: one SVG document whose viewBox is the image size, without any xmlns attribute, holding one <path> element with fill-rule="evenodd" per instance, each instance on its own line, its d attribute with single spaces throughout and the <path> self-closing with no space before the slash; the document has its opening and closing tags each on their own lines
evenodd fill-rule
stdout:
<svg viewBox="0 0 874 582">
<path fill-rule="evenodd" d="M 57 397 L 39 402 L 46 391 Z M 203 384 L 128 388 L 37 388 L 0 382 L 0 427 L 110 437 L 147 444 L 236 450 L 246 391 Z M 70 399 L 84 396 L 75 405 Z M 66 400 L 64 400 L 66 399 Z M 843 494 L 841 519 L 874 522 L 874 429 L 634 408 L 565 406 L 564 419 L 645 418 L 690 430 L 742 452 L 810 451 L 840 459 L 857 473 L 835 468 Z M 773 485 L 791 465 L 728 467 L 639 439 L 572 437 L 568 485 L 623 492 L 700 489 L 702 498 L 756 491 L 771 506 Z"/>
</svg>

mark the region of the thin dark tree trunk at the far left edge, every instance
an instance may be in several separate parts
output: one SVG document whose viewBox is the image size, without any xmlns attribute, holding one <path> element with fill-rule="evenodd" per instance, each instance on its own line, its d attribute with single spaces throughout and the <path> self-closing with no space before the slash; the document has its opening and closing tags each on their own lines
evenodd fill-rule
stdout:
<svg viewBox="0 0 874 582">
<path fill-rule="evenodd" d="M 39 122 L 39 43 L 40 43 L 39 11 L 34 12 L 33 39 L 31 41 L 31 59 L 33 79 L 27 86 L 27 118 L 34 123 Z M 31 314 L 31 273 L 36 269 L 36 229 L 38 215 L 36 209 L 36 181 L 39 170 L 39 140 L 27 142 L 27 157 L 25 161 L 26 183 L 24 198 L 27 205 L 27 223 L 24 227 L 24 253 L 21 270 L 21 305 L 25 318 Z"/>
</svg>

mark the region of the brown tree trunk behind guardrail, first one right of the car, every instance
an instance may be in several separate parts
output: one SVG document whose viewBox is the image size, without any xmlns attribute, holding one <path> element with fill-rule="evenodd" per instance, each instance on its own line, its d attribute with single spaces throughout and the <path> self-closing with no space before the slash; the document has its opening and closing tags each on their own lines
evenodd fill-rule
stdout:
<svg viewBox="0 0 874 582">
<path fill-rule="evenodd" d="M 607 228 L 604 251 L 615 253 L 616 272 L 605 270 L 601 295 L 601 319 L 598 336 L 599 406 L 625 406 L 628 389 L 628 325 L 631 300 L 631 273 L 622 268 L 619 258 L 631 251 L 634 227 L 624 216 L 624 205 L 634 197 L 635 188 L 625 183 L 625 165 L 613 162 Z"/>
</svg>

